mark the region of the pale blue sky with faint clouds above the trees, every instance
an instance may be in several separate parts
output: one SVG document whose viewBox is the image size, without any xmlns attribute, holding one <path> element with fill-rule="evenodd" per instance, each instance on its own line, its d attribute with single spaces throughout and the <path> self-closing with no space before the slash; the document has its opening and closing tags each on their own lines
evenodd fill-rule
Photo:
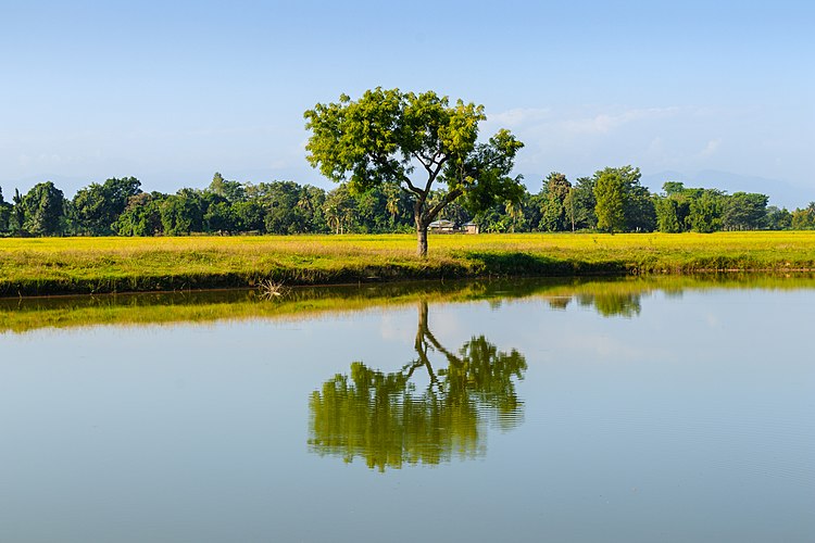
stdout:
<svg viewBox="0 0 815 543">
<path fill-rule="evenodd" d="M 815 200 L 815 2 L 0 0 L 0 187 L 291 179 L 303 112 L 381 86 L 485 105 L 532 192 L 639 166 Z M 749 182 L 748 182 L 749 181 Z"/>
</svg>

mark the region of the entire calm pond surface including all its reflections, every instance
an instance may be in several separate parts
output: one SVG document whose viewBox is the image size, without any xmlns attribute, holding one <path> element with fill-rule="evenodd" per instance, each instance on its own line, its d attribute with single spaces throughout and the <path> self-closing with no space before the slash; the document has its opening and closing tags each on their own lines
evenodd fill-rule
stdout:
<svg viewBox="0 0 815 543">
<path fill-rule="evenodd" d="M 0 304 L 0 541 L 815 541 L 815 280 L 389 289 Z"/>
</svg>

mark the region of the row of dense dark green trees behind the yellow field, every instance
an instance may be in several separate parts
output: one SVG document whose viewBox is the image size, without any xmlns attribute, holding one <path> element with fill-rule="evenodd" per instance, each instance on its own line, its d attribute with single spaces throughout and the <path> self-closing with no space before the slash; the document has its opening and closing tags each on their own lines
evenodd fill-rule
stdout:
<svg viewBox="0 0 815 543">
<path fill-rule="evenodd" d="M 444 190 L 428 202 L 443 202 Z M 660 193 L 640 185 L 639 168 L 607 167 L 574 182 L 560 173 L 514 201 L 477 213 L 456 201 L 438 218 L 476 223 L 485 232 L 714 232 L 815 229 L 815 202 L 792 212 L 765 194 L 688 188 L 667 181 Z M 326 191 L 294 181 L 240 182 L 216 173 L 204 189 L 145 192 L 135 177 L 91 182 L 72 199 L 53 182 L 5 201 L 0 236 L 185 236 L 191 233 L 386 233 L 415 231 L 414 198 L 392 185 Z"/>
</svg>

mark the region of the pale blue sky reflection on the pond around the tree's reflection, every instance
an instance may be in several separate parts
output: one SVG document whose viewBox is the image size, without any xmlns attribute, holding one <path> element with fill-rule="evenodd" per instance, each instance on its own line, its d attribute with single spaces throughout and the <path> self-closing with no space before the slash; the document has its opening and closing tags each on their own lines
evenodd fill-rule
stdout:
<svg viewBox="0 0 815 543">
<path fill-rule="evenodd" d="M 2 336 L 0 540 L 811 541 L 815 290 L 640 304 L 430 303 L 450 349 L 523 353 L 525 420 L 385 475 L 310 454 L 308 399 L 413 359 L 415 306 Z"/>
</svg>

